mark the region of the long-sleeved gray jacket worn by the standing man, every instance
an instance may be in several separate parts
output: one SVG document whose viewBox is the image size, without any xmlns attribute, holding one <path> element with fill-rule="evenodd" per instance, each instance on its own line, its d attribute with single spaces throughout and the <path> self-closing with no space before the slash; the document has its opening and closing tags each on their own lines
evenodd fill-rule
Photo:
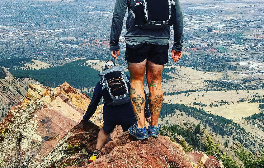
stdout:
<svg viewBox="0 0 264 168">
<path fill-rule="evenodd" d="M 183 42 L 183 17 L 179 0 L 175 0 L 176 7 L 176 24 L 173 25 L 174 43 L 173 50 L 182 51 Z M 123 21 L 126 9 L 130 8 L 134 11 L 135 0 L 116 0 L 112 27 L 110 33 L 110 51 L 120 49 L 119 37 L 123 27 Z M 126 19 L 126 34 L 125 40 L 131 42 L 148 43 L 167 45 L 170 38 L 170 27 L 161 30 L 146 30 L 134 26 L 134 17 L 128 10 L 128 17 Z"/>
</svg>

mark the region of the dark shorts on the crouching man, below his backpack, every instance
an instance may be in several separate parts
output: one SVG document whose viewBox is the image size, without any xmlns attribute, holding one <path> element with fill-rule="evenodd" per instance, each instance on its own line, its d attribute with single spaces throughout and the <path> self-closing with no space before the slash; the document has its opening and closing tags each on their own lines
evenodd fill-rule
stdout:
<svg viewBox="0 0 264 168">
<path fill-rule="evenodd" d="M 121 125 L 123 132 L 125 132 L 134 124 L 136 124 L 135 116 L 124 118 L 103 116 L 103 130 L 107 134 L 110 134 L 115 129 L 116 125 Z"/>
</svg>

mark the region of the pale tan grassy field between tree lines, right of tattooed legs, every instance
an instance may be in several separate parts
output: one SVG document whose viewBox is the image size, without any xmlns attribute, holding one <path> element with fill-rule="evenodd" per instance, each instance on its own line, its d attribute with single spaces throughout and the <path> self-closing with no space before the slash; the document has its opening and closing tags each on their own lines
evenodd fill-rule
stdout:
<svg viewBox="0 0 264 168">
<path fill-rule="evenodd" d="M 238 94 L 237 94 L 238 93 Z M 258 93 L 259 96 L 263 97 L 264 90 L 247 90 L 239 91 L 215 91 L 215 92 L 191 92 L 190 97 L 185 96 L 185 93 L 173 96 L 164 96 L 164 102 L 168 103 L 174 99 L 173 103 L 181 103 L 188 106 L 200 107 L 198 105 L 193 105 L 193 102 L 202 102 L 207 107 L 202 107 L 206 111 L 213 113 L 215 115 L 220 115 L 228 119 L 241 119 L 245 116 L 250 116 L 252 114 L 258 113 L 260 110 L 258 108 L 259 103 L 248 103 L 242 102 L 238 103 L 240 99 L 252 99 L 253 94 Z M 202 96 L 204 94 L 204 97 Z M 187 93 L 188 95 L 188 93 Z M 199 95 L 199 96 L 198 96 Z M 196 99 L 195 99 L 196 98 Z M 228 104 L 217 103 L 221 101 L 227 101 Z M 219 107 L 209 107 L 213 102 L 218 104 Z M 234 103 L 234 104 L 232 104 Z M 220 106 L 222 104 L 222 106 Z"/>
</svg>

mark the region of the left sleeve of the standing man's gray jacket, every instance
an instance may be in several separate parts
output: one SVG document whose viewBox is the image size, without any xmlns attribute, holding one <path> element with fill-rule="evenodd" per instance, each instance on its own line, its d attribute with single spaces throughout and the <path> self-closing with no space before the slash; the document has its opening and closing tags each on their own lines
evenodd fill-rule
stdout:
<svg viewBox="0 0 264 168">
<path fill-rule="evenodd" d="M 119 37 L 123 28 L 123 21 L 127 7 L 127 0 L 116 0 L 110 33 L 110 51 L 116 51 L 120 49 Z"/>
</svg>

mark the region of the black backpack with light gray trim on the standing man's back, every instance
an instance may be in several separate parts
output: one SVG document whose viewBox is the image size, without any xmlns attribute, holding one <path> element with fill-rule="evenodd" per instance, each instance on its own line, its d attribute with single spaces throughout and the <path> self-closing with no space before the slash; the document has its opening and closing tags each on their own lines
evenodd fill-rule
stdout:
<svg viewBox="0 0 264 168">
<path fill-rule="evenodd" d="M 135 26 L 142 29 L 165 29 L 176 23 L 176 8 L 173 0 L 136 0 L 134 11 Z"/>
</svg>

